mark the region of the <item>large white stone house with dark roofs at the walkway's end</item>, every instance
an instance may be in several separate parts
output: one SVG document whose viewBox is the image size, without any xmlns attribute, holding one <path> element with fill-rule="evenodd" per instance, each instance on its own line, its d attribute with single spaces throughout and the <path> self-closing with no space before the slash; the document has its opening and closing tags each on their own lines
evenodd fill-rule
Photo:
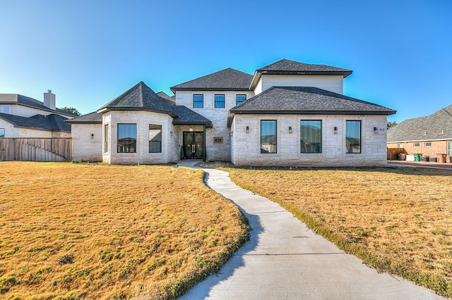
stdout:
<svg viewBox="0 0 452 300">
<path fill-rule="evenodd" d="M 396 111 L 344 96 L 351 73 L 283 59 L 254 75 L 227 68 L 175 85 L 174 99 L 139 82 L 97 112 L 69 120 L 73 157 L 385 165 L 386 115 Z"/>
</svg>

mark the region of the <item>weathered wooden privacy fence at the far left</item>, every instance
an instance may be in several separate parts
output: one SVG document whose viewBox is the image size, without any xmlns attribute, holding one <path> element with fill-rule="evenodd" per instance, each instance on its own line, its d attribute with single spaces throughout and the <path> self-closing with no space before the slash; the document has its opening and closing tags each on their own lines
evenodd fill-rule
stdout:
<svg viewBox="0 0 452 300">
<path fill-rule="evenodd" d="M 71 161 L 71 138 L 2 138 L 0 161 Z"/>
</svg>

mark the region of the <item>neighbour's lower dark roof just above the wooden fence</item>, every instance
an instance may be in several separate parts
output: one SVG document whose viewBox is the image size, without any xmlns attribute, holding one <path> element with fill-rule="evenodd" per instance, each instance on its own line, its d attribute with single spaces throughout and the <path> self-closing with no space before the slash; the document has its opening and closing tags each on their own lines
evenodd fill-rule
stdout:
<svg viewBox="0 0 452 300">
<path fill-rule="evenodd" d="M 13 124 L 14 127 L 71 132 L 71 125 L 65 122 L 68 119 L 54 113 L 50 115 L 33 115 L 30 118 L 0 113 L 0 118 Z"/>
</svg>

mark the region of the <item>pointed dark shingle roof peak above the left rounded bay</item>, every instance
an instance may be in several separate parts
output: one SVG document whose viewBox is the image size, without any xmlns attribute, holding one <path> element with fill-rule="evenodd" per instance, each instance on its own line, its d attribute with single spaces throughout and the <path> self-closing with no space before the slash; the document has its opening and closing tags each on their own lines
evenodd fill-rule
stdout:
<svg viewBox="0 0 452 300">
<path fill-rule="evenodd" d="M 117 96 L 108 104 L 99 108 L 97 113 L 105 111 L 155 111 L 157 113 L 167 113 L 175 117 L 172 106 L 174 103 L 157 96 L 144 82 L 138 82 L 126 92 Z"/>
</svg>

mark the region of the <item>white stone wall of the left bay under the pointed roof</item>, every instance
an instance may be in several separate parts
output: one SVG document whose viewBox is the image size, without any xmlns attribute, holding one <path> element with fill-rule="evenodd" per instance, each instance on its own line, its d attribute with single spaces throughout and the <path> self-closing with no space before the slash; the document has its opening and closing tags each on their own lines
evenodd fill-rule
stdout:
<svg viewBox="0 0 452 300">
<path fill-rule="evenodd" d="M 102 154 L 105 163 L 136 165 L 169 163 L 179 159 L 178 135 L 172 117 L 150 111 L 109 111 L 102 115 L 102 127 L 109 125 L 109 144 Z M 136 124 L 136 153 L 117 152 L 118 124 Z M 149 125 L 162 125 L 162 152 L 149 153 Z M 171 134 L 172 132 L 172 134 Z M 101 147 L 103 149 L 103 145 Z"/>
</svg>

